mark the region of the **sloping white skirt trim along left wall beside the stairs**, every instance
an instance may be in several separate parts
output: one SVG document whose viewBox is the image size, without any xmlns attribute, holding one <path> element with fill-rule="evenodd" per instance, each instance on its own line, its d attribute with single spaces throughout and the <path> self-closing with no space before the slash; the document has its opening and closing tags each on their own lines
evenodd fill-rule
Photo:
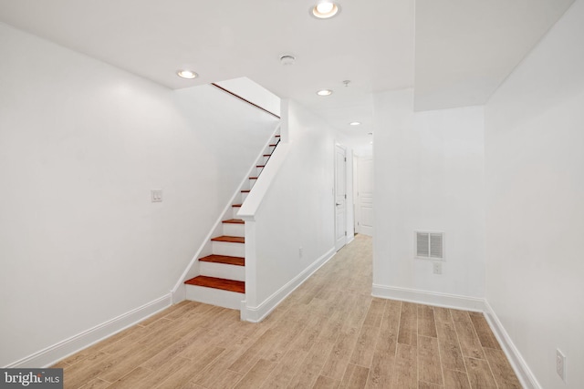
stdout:
<svg viewBox="0 0 584 389">
<path fill-rule="evenodd" d="M 217 230 L 221 226 L 226 215 L 231 215 L 233 213 L 233 205 L 235 204 L 235 198 L 241 194 L 241 189 L 244 188 L 244 185 L 248 182 L 249 177 L 252 175 L 252 171 L 254 171 L 255 166 L 257 165 L 257 160 L 259 160 L 261 158 L 261 156 L 264 155 L 264 150 L 266 149 L 266 146 L 269 145 L 270 142 L 274 139 L 274 136 L 276 135 L 277 130 L 279 128 L 280 128 L 280 124 L 278 123 L 276 125 L 276 128 L 274 129 L 274 132 L 272 133 L 272 136 L 267 140 L 266 145 L 259 152 L 258 158 L 254 160 L 254 164 L 247 171 L 247 174 L 245 174 L 244 179 L 241 180 L 237 189 L 235 189 L 234 195 L 231 197 L 231 199 L 229 200 L 229 202 L 225 206 L 223 212 L 221 212 L 221 214 L 219 215 L 219 218 L 217 218 L 217 220 L 215 221 L 213 228 L 211 230 L 209 230 L 209 233 L 207 234 L 207 236 L 203 240 L 203 243 L 201 244 L 199 249 L 194 253 L 193 259 L 186 266 L 186 269 L 184 269 L 183 274 L 181 274 L 181 277 L 179 278 L 178 282 L 176 282 L 176 284 L 174 285 L 174 288 L 172 288 L 172 290 L 171 290 L 172 302 L 174 302 L 174 303 L 182 302 L 183 300 L 186 299 L 186 289 L 184 288 L 184 282 L 187 280 L 189 271 L 191 271 L 191 269 L 193 269 L 193 266 L 196 264 L 196 262 L 199 261 L 199 258 L 201 257 L 201 252 L 203 252 L 206 244 L 209 241 L 211 241 L 211 238 L 213 238 L 215 230 Z M 230 212 L 230 213 L 227 213 L 227 212 Z M 229 218 L 229 219 L 231 219 L 231 218 Z"/>
</svg>

